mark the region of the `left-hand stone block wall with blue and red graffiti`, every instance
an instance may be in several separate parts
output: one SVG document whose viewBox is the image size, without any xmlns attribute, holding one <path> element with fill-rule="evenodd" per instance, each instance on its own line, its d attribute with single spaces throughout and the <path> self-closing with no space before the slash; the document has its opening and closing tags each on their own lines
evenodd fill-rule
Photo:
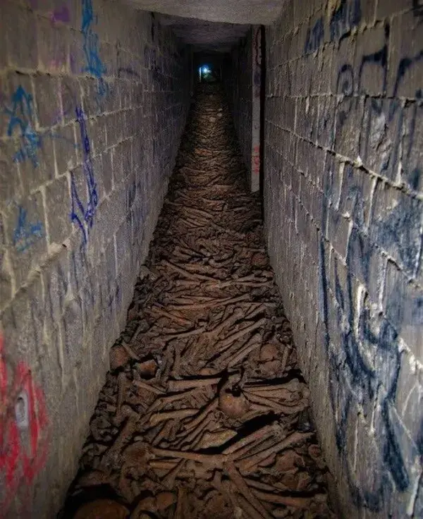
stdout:
<svg viewBox="0 0 423 519">
<path fill-rule="evenodd" d="M 0 508 L 53 517 L 161 210 L 191 56 L 112 0 L 3 0 L 0 18 Z"/>
</svg>

